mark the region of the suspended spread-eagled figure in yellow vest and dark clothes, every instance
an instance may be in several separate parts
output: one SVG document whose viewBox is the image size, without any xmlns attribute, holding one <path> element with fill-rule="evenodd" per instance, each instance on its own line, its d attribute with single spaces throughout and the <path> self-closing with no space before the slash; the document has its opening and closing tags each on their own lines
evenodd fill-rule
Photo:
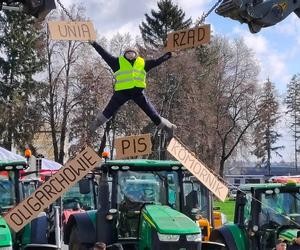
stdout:
<svg viewBox="0 0 300 250">
<path fill-rule="evenodd" d="M 97 114 L 96 119 L 89 128 L 89 134 L 93 134 L 99 126 L 107 122 L 124 103 L 128 100 L 133 100 L 149 116 L 153 123 L 158 128 L 165 130 L 168 137 L 171 138 L 176 126 L 158 114 L 151 102 L 146 98 L 144 89 L 147 85 L 147 72 L 170 59 L 172 53 L 168 52 L 158 59 L 145 60 L 139 56 L 136 49 L 128 48 L 122 56 L 114 57 L 97 42 L 91 42 L 91 45 L 110 66 L 114 72 L 116 82 L 113 96 L 106 108 Z"/>
</svg>

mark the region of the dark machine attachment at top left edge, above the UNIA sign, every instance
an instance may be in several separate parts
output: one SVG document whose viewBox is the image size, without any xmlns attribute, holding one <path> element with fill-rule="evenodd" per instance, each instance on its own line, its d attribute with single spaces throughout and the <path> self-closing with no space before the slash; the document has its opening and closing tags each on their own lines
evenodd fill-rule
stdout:
<svg viewBox="0 0 300 250">
<path fill-rule="evenodd" d="M 44 20 L 56 8 L 55 0 L 23 0 L 24 11 L 31 16 Z"/>
</svg>

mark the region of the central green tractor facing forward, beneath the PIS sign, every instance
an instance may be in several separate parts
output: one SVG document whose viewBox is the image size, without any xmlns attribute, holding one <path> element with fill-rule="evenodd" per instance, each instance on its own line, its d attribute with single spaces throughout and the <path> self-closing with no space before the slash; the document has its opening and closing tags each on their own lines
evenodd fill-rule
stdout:
<svg viewBox="0 0 300 250">
<path fill-rule="evenodd" d="M 131 250 L 223 246 L 202 242 L 198 194 L 179 162 L 111 160 L 95 171 L 100 175 L 98 210 L 70 216 L 64 228 L 69 249 L 89 249 L 96 242 Z"/>
</svg>

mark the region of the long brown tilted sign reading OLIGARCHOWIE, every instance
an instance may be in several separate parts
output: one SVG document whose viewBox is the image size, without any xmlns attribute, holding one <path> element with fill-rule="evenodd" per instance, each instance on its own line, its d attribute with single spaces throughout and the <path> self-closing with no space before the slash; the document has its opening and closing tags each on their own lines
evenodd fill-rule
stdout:
<svg viewBox="0 0 300 250">
<path fill-rule="evenodd" d="M 15 232 L 20 231 L 100 162 L 101 158 L 93 149 L 85 148 L 32 195 L 10 210 L 4 216 L 7 224 Z"/>
</svg>

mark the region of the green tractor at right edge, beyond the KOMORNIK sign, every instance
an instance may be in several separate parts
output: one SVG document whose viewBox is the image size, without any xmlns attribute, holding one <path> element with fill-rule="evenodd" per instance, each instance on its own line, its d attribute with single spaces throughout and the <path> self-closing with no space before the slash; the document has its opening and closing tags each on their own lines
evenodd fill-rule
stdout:
<svg viewBox="0 0 300 250">
<path fill-rule="evenodd" d="M 291 244 L 300 231 L 300 184 L 241 185 L 234 224 L 213 230 L 224 250 L 271 250 L 280 238 Z"/>
</svg>

